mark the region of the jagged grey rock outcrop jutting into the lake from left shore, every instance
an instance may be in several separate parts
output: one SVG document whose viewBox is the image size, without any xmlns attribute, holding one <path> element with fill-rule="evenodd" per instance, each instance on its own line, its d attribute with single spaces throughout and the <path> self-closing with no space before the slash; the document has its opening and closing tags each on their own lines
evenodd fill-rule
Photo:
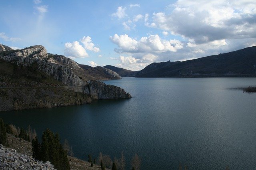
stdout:
<svg viewBox="0 0 256 170">
<path fill-rule="evenodd" d="M 103 82 L 92 80 L 84 87 L 84 93 L 92 99 L 124 99 L 131 98 L 124 89 L 114 85 L 106 85 Z"/>
</svg>

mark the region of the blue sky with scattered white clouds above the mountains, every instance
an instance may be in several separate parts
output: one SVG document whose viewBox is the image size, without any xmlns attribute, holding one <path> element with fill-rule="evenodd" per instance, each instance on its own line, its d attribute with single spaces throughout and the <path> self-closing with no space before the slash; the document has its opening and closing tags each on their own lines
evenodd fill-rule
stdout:
<svg viewBox="0 0 256 170">
<path fill-rule="evenodd" d="M 256 45 L 255 0 L 1 0 L 0 43 L 141 70 Z"/>
</svg>

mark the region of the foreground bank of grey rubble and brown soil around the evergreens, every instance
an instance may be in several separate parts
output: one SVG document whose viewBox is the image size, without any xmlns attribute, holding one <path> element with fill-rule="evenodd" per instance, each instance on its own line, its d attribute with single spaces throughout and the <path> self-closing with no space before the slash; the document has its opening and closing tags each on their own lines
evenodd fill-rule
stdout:
<svg viewBox="0 0 256 170">
<path fill-rule="evenodd" d="M 32 158 L 31 142 L 7 135 L 10 148 L 0 144 L 0 169 L 4 170 L 54 170 L 50 162 L 42 162 Z M 70 169 L 72 170 L 100 170 L 100 166 L 91 164 L 84 160 L 68 156 Z"/>
</svg>

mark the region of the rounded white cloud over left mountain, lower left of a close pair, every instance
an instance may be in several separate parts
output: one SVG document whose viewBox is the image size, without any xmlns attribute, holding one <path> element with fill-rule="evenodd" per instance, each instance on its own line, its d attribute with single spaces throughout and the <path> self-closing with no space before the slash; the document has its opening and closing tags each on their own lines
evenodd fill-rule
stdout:
<svg viewBox="0 0 256 170">
<path fill-rule="evenodd" d="M 86 50 L 78 41 L 65 43 L 64 53 L 67 57 L 72 59 L 88 57 Z"/>
</svg>

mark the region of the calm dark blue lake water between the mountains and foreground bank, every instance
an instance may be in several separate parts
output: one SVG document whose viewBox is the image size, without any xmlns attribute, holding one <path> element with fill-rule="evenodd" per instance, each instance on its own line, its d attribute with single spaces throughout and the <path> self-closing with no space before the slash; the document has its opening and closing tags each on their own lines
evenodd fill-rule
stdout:
<svg viewBox="0 0 256 170">
<path fill-rule="evenodd" d="M 256 78 L 124 78 L 105 81 L 133 98 L 89 105 L 0 112 L 6 123 L 47 127 L 76 157 L 134 154 L 141 169 L 256 169 Z"/>
</svg>

